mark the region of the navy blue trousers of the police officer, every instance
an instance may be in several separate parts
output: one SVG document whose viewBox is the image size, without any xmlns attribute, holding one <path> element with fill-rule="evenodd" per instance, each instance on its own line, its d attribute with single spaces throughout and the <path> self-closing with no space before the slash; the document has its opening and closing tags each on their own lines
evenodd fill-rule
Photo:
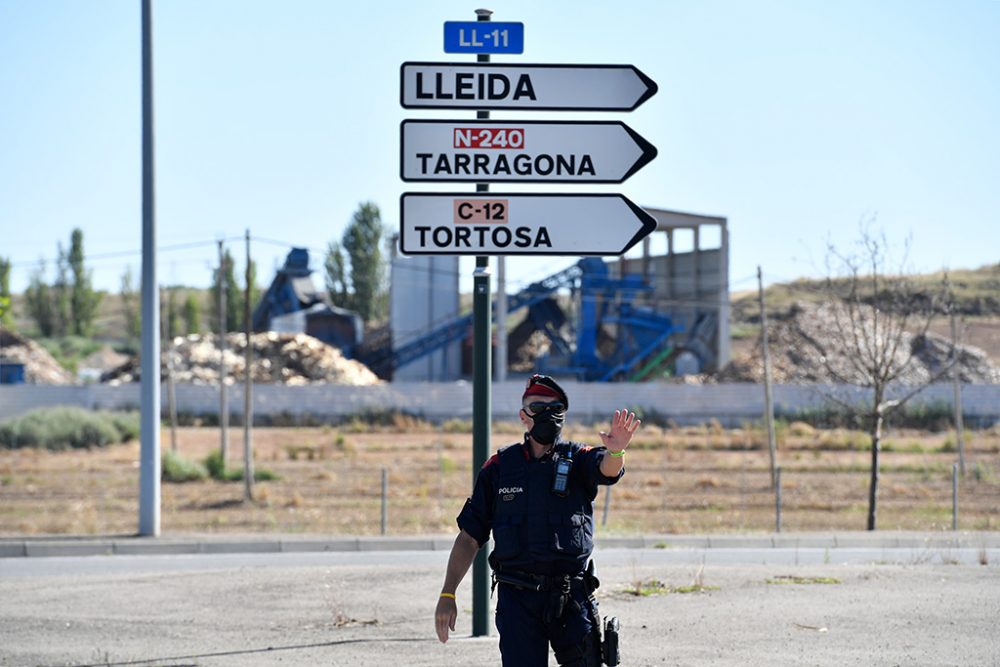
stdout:
<svg viewBox="0 0 1000 667">
<path fill-rule="evenodd" d="M 593 629 L 590 602 L 579 586 L 573 586 L 576 604 L 568 603 L 560 619 L 545 623 L 548 591 L 529 591 L 509 584 L 497 585 L 497 631 L 504 667 L 546 667 L 549 646 L 559 664 L 577 664 Z M 567 659 L 569 656 L 569 659 Z M 586 664 L 586 663 L 579 663 Z"/>
</svg>

